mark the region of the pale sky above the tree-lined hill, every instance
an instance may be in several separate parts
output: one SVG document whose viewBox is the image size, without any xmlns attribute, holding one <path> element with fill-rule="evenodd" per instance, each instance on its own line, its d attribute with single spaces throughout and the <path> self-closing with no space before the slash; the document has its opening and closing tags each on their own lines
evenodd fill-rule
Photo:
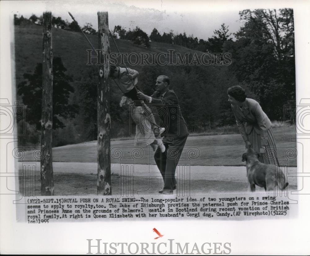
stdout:
<svg viewBox="0 0 310 256">
<path fill-rule="evenodd" d="M 257 2 L 257 1 L 256 1 Z M 264 1 L 262 1 L 264 3 Z M 229 26 L 230 32 L 240 28 L 239 11 L 249 8 L 281 7 L 264 3 L 243 1 L 13 1 L 12 13 L 29 18 L 32 14 L 42 15 L 45 10 L 53 16 L 60 16 L 71 22 L 70 11 L 80 26 L 91 23 L 98 29 L 97 11 L 108 11 L 109 28 L 121 25 L 126 30 L 139 26 L 148 35 L 153 28 L 162 34 L 171 30 L 176 33 L 193 34 L 194 37 L 207 40 L 219 29 L 221 24 Z M 233 35 L 232 35 L 233 37 Z"/>
</svg>

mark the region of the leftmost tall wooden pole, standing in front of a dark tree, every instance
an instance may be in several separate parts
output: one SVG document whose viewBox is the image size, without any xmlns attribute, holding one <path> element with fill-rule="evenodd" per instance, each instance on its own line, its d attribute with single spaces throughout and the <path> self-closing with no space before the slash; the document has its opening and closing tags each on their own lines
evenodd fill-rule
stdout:
<svg viewBox="0 0 310 256">
<path fill-rule="evenodd" d="M 52 14 L 43 13 L 43 65 L 42 65 L 42 119 L 41 195 L 54 195 L 52 131 L 53 131 L 53 69 L 52 69 Z"/>
</svg>

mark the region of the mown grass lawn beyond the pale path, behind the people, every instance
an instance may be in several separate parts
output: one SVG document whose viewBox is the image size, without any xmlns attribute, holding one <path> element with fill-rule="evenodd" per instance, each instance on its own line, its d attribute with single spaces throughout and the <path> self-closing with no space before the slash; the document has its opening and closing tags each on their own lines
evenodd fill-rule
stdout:
<svg viewBox="0 0 310 256">
<path fill-rule="evenodd" d="M 294 127 L 290 127 L 293 132 Z M 296 136 L 283 135 L 283 127 L 273 128 L 273 133 L 277 143 L 277 153 L 279 160 L 287 160 L 286 150 L 293 149 L 296 152 L 296 142 L 292 142 Z M 122 160 L 131 158 L 131 151 L 134 141 L 118 140 L 111 141 L 111 150 L 120 148 L 123 156 Z M 212 136 L 189 136 L 181 156 L 181 160 L 188 159 L 188 151 L 195 147 L 199 150 L 200 156 L 191 160 L 191 165 L 212 165 L 212 166 L 240 166 L 241 156 L 244 153 L 244 142 L 240 134 L 212 135 Z M 155 164 L 153 150 L 150 147 L 143 149 L 144 155 L 140 159 L 135 159 L 136 164 Z M 297 155 L 297 154 L 296 154 Z M 33 160 L 32 152 L 26 152 L 24 160 Z M 66 145 L 53 148 L 54 162 L 97 162 L 97 142 L 86 142 L 75 145 Z M 119 163 L 119 159 L 111 158 L 112 163 Z M 289 166 L 296 166 L 296 157 L 289 159 Z"/>
</svg>

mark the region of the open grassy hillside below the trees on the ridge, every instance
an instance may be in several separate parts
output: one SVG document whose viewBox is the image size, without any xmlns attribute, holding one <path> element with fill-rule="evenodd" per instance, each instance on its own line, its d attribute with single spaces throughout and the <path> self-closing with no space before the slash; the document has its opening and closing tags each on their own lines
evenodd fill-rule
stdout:
<svg viewBox="0 0 310 256">
<path fill-rule="evenodd" d="M 92 45 L 98 48 L 98 36 L 87 35 Z M 91 46 L 86 41 L 82 33 L 55 29 L 52 30 L 52 44 L 53 44 L 53 56 L 61 57 L 64 66 L 68 70 L 68 74 L 73 76 L 74 80 L 80 80 L 82 70 L 87 63 L 86 49 L 91 49 Z M 181 53 L 183 56 L 185 52 L 194 53 L 188 48 L 184 48 L 178 45 L 171 45 L 166 43 L 151 42 L 150 49 L 145 47 L 139 47 L 134 45 L 129 40 L 116 39 L 117 46 L 120 52 L 126 53 L 160 53 L 167 52 L 167 49 L 175 49 L 175 52 Z M 117 52 L 113 41 L 110 41 L 111 52 Z M 201 55 L 202 52 L 197 52 Z M 175 60 L 175 59 L 174 59 Z M 16 63 L 16 84 L 23 80 L 24 73 L 33 73 L 34 67 L 37 63 L 42 62 L 42 26 L 15 26 L 15 63 Z M 135 70 L 142 73 L 142 65 L 131 66 Z M 208 69 L 210 67 L 206 67 Z M 171 77 L 171 83 L 173 84 L 174 77 Z"/>
</svg>

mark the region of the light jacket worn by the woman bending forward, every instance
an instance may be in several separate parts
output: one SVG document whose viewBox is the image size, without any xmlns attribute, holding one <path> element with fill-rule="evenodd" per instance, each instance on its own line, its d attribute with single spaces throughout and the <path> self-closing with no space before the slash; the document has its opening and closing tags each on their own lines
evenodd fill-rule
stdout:
<svg viewBox="0 0 310 256">
<path fill-rule="evenodd" d="M 246 98 L 243 111 L 239 106 L 231 105 L 231 107 L 243 140 L 246 141 L 247 135 L 252 132 L 252 129 L 255 129 L 255 132 L 261 137 L 261 145 L 265 145 L 267 143 L 266 131 L 271 127 L 271 121 L 259 103 Z"/>
</svg>

